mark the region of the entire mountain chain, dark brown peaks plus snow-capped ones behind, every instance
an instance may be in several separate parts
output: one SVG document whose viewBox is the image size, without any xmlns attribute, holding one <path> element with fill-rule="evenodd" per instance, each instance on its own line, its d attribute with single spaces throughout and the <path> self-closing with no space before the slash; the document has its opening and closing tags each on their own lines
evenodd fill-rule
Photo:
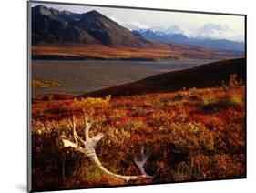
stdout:
<svg viewBox="0 0 256 193">
<path fill-rule="evenodd" d="M 95 10 L 75 14 L 43 5 L 33 7 L 32 15 L 36 18 L 32 23 L 33 44 L 61 40 L 77 44 L 146 47 L 153 46 L 155 43 L 150 40 L 155 40 L 225 50 L 244 50 L 243 43 L 228 40 L 233 33 L 226 25 L 208 24 L 194 31 L 189 31 L 179 25 L 148 26 L 138 22 L 129 22 L 128 27 L 118 22 L 117 19 L 113 21 Z M 132 32 L 131 29 L 133 29 Z"/>
</svg>

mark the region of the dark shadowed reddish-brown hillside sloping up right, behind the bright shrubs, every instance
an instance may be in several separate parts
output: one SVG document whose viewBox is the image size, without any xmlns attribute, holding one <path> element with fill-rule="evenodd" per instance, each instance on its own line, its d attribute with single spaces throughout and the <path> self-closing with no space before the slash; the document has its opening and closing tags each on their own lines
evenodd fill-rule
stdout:
<svg viewBox="0 0 256 193">
<path fill-rule="evenodd" d="M 148 93 L 173 92 L 192 87 L 220 86 L 231 74 L 245 79 L 245 58 L 222 60 L 193 68 L 149 76 L 138 82 L 108 87 L 87 93 L 86 96 L 132 96 Z"/>
</svg>

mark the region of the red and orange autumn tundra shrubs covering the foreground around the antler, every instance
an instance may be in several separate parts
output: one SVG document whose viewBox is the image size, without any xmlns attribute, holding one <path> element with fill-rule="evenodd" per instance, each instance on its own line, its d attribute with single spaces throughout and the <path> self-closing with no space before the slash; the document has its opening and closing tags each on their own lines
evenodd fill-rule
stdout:
<svg viewBox="0 0 256 193">
<path fill-rule="evenodd" d="M 235 74 L 222 86 L 172 93 L 36 98 L 32 104 L 34 189 L 243 178 L 244 103 L 244 83 Z M 95 147 L 103 168 L 141 177 L 138 162 L 144 156 L 148 160 L 143 168 L 151 178 L 109 175 L 79 150 L 86 148 L 81 143 L 87 141 L 86 130 L 88 138 L 103 135 Z"/>
</svg>

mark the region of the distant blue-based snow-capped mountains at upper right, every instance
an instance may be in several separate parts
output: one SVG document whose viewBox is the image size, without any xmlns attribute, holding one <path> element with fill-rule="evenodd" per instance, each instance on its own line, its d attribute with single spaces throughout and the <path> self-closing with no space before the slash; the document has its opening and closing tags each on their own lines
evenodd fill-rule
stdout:
<svg viewBox="0 0 256 193">
<path fill-rule="evenodd" d="M 186 36 L 184 30 L 181 30 L 179 26 L 173 25 L 169 27 L 169 31 L 158 30 L 163 28 L 150 28 L 150 29 L 138 29 L 133 30 L 133 34 L 137 36 L 144 36 L 149 40 L 162 41 L 176 44 L 187 44 L 192 46 L 206 46 L 223 50 L 244 51 L 244 43 L 239 41 L 232 41 L 225 39 L 221 36 L 230 36 L 230 29 L 227 26 L 220 25 L 207 25 L 197 30 L 197 34 L 190 34 Z M 227 30 L 227 32 L 225 32 Z M 200 33 L 201 32 L 201 33 Z M 226 34 L 224 34 L 226 33 Z"/>
</svg>

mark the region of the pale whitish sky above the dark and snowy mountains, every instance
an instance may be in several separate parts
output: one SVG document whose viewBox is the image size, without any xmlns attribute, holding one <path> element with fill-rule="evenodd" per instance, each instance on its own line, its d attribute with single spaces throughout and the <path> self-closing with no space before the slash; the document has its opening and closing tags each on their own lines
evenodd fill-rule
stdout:
<svg viewBox="0 0 256 193">
<path fill-rule="evenodd" d="M 38 4 L 32 4 L 32 6 L 35 5 Z M 56 8 L 58 10 L 67 10 L 75 13 L 85 13 L 90 10 L 97 10 L 101 14 L 115 20 L 120 25 L 138 25 L 142 28 L 149 28 L 156 25 L 161 25 L 164 27 L 179 25 L 181 28 L 194 30 L 202 27 L 203 25 L 216 24 L 228 26 L 231 31 L 231 36 L 241 36 L 242 39 L 244 36 L 244 17 L 237 15 L 210 15 L 168 11 L 148 11 L 87 5 L 44 5 L 47 7 Z"/>
</svg>

